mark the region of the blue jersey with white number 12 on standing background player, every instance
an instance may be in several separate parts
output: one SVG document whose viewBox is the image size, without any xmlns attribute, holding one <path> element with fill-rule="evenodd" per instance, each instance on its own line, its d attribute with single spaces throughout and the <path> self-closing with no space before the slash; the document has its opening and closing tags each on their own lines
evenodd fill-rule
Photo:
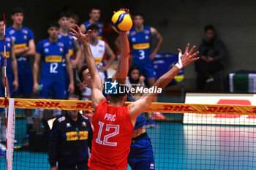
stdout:
<svg viewBox="0 0 256 170">
<path fill-rule="evenodd" d="M 62 60 L 68 53 L 66 44 L 43 39 L 37 44 L 37 53 L 42 57 L 42 76 L 63 77 Z"/>
</svg>

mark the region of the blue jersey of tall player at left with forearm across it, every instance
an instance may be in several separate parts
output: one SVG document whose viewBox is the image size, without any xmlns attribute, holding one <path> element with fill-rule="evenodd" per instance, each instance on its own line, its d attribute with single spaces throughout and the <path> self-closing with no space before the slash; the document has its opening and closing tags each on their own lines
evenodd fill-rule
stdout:
<svg viewBox="0 0 256 170">
<path fill-rule="evenodd" d="M 10 26 L 7 28 L 7 35 L 12 36 L 15 45 L 14 50 L 22 49 L 24 47 L 29 47 L 29 41 L 34 39 L 33 31 L 29 28 L 22 27 L 20 30 L 16 30 Z M 18 74 L 31 73 L 31 65 L 29 58 L 16 56 L 18 63 Z"/>
</svg>

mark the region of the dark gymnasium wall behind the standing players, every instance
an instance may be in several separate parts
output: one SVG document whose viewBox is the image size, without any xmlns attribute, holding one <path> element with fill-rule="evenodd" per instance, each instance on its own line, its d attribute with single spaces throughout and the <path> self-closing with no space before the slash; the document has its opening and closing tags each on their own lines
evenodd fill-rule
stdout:
<svg viewBox="0 0 256 170">
<path fill-rule="evenodd" d="M 144 15 L 145 24 L 154 26 L 164 37 L 160 51 L 176 53 L 177 48 L 184 49 L 187 42 L 199 45 L 203 38 L 203 27 L 212 23 L 217 28 L 219 37 L 225 42 L 229 52 L 225 60 L 225 73 L 238 69 L 255 69 L 256 53 L 256 1 L 248 0 L 129 0 L 129 1 L 4 1 L 0 6 L 1 14 L 7 15 L 10 26 L 10 11 L 13 7 L 23 7 L 26 10 L 24 26 L 34 31 L 35 41 L 48 36 L 46 28 L 50 20 L 56 20 L 58 13 L 64 7 L 80 17 L 80 22 L 89 18 L 89 8 L 99 6 L 102 9 L 101 20 L 110 21 L 114 9 L 122 5 L 132 11 Z M 109 34 L 110 45 L 115 34 Z M 194 64 L 187 66 L 185 76 L 189 79 L 186 85 L 195 88 Z"/>
</svg>

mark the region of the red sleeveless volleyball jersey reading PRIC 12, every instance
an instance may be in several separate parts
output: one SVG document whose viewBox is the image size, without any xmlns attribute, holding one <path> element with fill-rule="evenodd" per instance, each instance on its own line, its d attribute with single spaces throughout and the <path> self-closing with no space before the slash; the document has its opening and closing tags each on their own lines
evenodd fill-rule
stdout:
<svg viewBox="0 0 256 170">
<path fill-rule="evenodd" d="M 128 107 L 112 107 L 102 101 L 92 117 L 94 136 L 89 169 L 127 169 L 133 125 Z"/>
</svg>

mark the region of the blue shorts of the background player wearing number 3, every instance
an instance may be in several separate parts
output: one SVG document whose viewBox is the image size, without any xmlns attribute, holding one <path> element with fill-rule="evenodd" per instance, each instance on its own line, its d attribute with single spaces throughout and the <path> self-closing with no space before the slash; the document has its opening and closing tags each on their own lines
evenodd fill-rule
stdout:
<svg viewBox="0 0 256 170">
<path fill-rule="evenodd" d="M 155 78 L 156 72 L 154 71 L 154 66 L 152 61 L 140 61 L 137 58 L 133 59 L 133 64 L 138 66 L 140 69 L 140 74 L 146 78 Z"/>
</svg>

